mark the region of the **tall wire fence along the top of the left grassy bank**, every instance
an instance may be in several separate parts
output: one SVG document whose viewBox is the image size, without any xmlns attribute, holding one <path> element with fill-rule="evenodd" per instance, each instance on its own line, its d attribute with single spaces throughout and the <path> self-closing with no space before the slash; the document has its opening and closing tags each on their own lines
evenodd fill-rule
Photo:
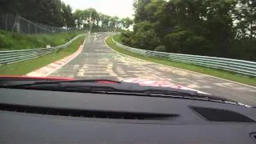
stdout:
<svg viewBox="0 0 256 144">
<path fill-rule="evenodd" d="M 21 16 L 14 14 L 0 15 L 0 29 L 15 31 L 19 34 L 41 34 L 41 33 L 58 33 L 70 30 L 76 30 L 75 27 L 54 27 L 47 26 L 38 22 L 30 22 Z"/>
</svg>

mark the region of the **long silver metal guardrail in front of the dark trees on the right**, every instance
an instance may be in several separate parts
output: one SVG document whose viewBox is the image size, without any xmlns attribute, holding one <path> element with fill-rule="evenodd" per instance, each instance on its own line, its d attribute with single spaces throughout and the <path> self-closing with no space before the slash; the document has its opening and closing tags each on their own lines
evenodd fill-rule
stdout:
<svg viewBox="0 0 256 144">
<path fill-rule="evenodd" d="M 189 64 L 194 64 L 198 66 L 206 66 L 210 68 L 228 70 L 238 74 L 246 74 L 250 76 L 256 76 L 256 62 L 243 61 L 238 59 L 230 58 L 216 58 L 200 55 L 190 55 L 190 54 L 174 54 L 174 53 L 164 53 L 151 50 L 136 49 L 129 46 L 124 46 L 118 43 L 112 37 L 112 41 L 119 47 L 131 52 L 142 54 L 146 57 L 154 58 L 165 58 L 174 62 L 184 62 Z"/>
</svg>

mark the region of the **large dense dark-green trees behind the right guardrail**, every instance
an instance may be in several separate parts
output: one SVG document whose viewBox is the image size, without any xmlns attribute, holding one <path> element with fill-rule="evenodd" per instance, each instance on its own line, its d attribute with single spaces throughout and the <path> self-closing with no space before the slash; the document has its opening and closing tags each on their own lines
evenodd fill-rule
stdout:
<svg viewBox="0 0 256 144">
<path fill-rule="evenodd" d="M 135 0 L 134 10 L 126 45 L 256 61 L 256 1 Z"/>
</svg>

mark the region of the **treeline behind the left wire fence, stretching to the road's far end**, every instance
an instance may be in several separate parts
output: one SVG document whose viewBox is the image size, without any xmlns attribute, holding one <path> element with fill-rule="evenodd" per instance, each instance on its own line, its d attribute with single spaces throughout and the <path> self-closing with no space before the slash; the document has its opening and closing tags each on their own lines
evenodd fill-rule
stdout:
<svg viewBox="0 0 256 144">
<path fill-rule="evenodd" d="M 0 14 L 18 14 L 32 22 L 49 26 L 97 28 L 100 30 L 128 29 L 133 21 L 130 18 L 111 17 L 90 8 L 75 10 L 61 0 L 1 0 Z"/>
</svg>

